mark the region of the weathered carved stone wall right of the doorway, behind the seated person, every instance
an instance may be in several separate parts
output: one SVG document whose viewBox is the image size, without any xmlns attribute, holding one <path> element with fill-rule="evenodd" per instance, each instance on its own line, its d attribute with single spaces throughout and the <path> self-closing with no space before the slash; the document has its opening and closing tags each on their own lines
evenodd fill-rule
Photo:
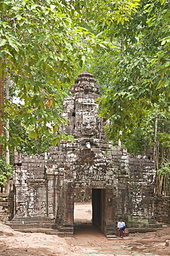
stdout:
<svg viewBox="0 0 170 256">
<path fill-rule="evenodd" d="M 112 147 L 111 155 L 118 177 L 116 219 L 123 216 L 129 224 L 154 221 L 153 161 L 145 155 L 129 154 L 126 148 Z"/>
</svg>

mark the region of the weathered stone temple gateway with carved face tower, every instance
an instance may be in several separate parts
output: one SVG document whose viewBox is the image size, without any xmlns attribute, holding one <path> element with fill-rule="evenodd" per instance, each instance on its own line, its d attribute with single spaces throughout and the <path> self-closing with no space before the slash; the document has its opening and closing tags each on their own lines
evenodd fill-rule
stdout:
<svg viewBox="0 0 170 256">
<path fill-rule="evenodd" d="M 105 120 L 98 117 L 99 86 L 84 72 L 63 103 L 68 125 L 61 129 L 75 142 L 62 141 L 49 152 L 14 157 L 14 218 L 12 228 L 44 230 L 58 235 L 74 232 L 74 195 L 92 190 L 92 223 L 107 237 L 117 235 L 120 216 L 128 229 L 156 228 L 153 187 L 156 172 L 147 156 L 128 154 L 105 139 Z"/>
</svg>

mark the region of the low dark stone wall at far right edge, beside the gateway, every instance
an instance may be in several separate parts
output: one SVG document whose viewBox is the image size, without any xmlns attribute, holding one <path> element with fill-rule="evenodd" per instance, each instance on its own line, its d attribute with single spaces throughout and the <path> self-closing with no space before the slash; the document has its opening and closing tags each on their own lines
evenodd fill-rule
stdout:
<svg viewBox="0 0 170 256">
<path fill-rule="evenodd" d="M 156 194 L 154 203 L 156 221 L 170 225 L 170 197 Z"/>
</svg>

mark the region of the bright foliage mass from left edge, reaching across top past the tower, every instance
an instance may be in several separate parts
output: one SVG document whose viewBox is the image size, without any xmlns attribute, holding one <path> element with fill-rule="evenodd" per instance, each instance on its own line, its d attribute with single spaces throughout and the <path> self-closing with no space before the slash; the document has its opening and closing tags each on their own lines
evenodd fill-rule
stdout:
<svg viewBox="0 0 170 256">
<path fill-rule="evenodd" d="M 66 122 L 60 115 L 61 101 L 65 96 L 63 89 L 73 82 L 78 68 L 85 62 L 85 56 L 105 44 L 101 35 L 92 33 L 92 25 L 94 28 L 95 22 L 101 22 L 101 13 L 106 12 L 104 22 L 115 20 L 123 23 L 125 17 L 129 17 L 137 7 L 138 0 L 109 0 L 107 3 L 76 0 L 47 0 L 41 3 L 36 0 L 0 1 L 2 144 L 6 140 L 3 138 L 2 120 L 15 116 L 26 127 L 34 125 L 30 138 L 37 139 L 43 134 L 53 136 L 53 144 L 59 143 L 61 138 L 71 139 L 58 132 L 61 123 Z M 17 104 L 7 100 L 3 108 L 7 66 L 21 102 Z M 14 135 L 9 143 L 12 147 L 19 143 L 19 136 Z"/>
</svg>

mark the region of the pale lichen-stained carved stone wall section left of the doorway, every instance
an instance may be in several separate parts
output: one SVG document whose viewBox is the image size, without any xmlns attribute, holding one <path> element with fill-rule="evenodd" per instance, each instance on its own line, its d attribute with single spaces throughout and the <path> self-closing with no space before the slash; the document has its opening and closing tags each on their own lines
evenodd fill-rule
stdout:
<svg viewBox="0 0 170 256">
<path fill-rule="evenodd" d="M 56 174 L 49 173 L 48 170 L 45 172 L 45 154 L 20 154 L 16 159 L 18 163 L 15 161 L 14 165 L 14 216 L 24 219 L 53 219 L 57 205 Z"/>
</svg>

